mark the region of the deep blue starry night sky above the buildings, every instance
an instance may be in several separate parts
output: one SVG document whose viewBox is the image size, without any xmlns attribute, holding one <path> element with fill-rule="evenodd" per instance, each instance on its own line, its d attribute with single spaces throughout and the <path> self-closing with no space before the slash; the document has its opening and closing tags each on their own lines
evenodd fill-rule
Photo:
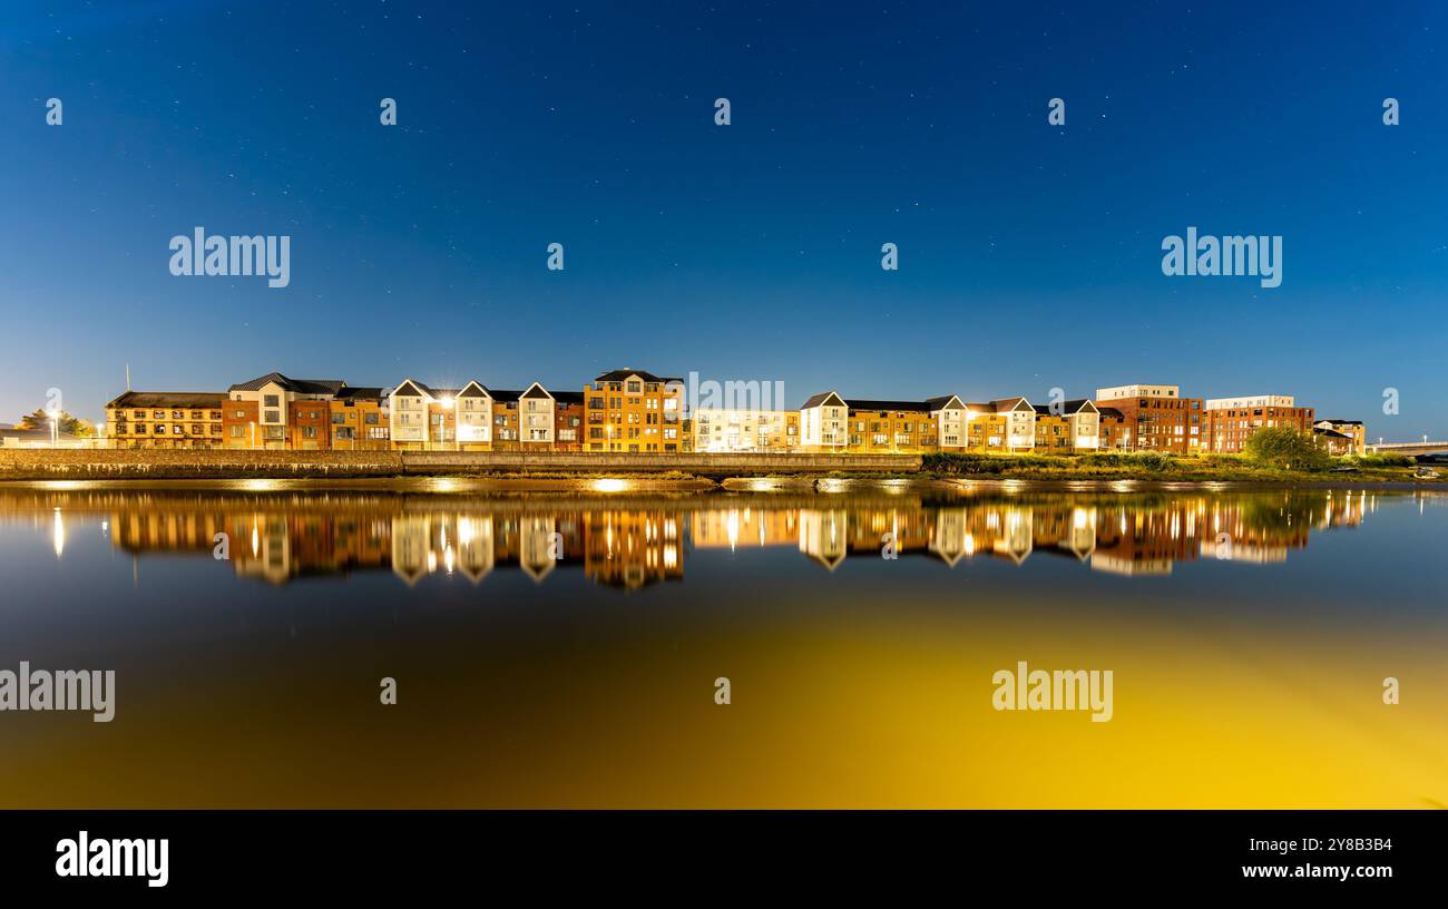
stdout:
<svg viewBox="0 0 1448 909">
<path fill-rule="evenodd" d="M 49 386 L 98 417 L 127 362 L 155 391 L 627 365 L 792 404 L 1179 382 L 1448 431 L 1436 4 L 17 6 L 0 420 Z M 290 234 L 291 287 L 171 276 L 197 224 Z M 1163 276 L 1189 224 L 1283 234 L 1281 287 Z"/>
</svg>

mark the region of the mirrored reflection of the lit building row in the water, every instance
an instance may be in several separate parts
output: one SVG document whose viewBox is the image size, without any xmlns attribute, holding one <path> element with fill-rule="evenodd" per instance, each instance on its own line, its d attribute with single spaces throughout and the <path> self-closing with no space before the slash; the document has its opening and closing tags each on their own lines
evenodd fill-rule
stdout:
<svg viewBox="0 0 1448 909">
<path fill-rule="evenodd" d="M 311 576 L 391 570 L 407 585 L 429 575 L 481 583 L 495 570 L 534 582 L 582 569 L 595 583 L 639 589 L 683 578 L 691 550 L 794 549 L 835 570 L 847 559 L 899 557 L 946 566 L 1058 556 L 1092 570 L 1167 575 L 1197 559 L 1284 562 L 1312 531 L 1360 524 L 1367 494 L 1224 495 L 1051 494 L 930 502 L 902 495 L 846 498 L 701 496 L 595 499 L 550 508 L 447 496 L 67 494 L 54 507 L 56 557 L 64 514 L 100 512 L 113 546 L 133 554 L 211 556 L 227 534 L 242 578 L 287 583 Z M 49 496 L 46 504 L 56 496 Z"/>
</svg>

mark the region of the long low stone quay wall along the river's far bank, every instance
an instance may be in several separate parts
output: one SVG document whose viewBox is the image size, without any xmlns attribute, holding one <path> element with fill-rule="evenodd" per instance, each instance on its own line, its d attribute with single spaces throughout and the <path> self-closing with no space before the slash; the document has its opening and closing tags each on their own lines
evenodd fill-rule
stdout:
<svg viewBox="0 0 1448 909">
<path fill-rule="evenodd" d="M 265 452 L 165 449 L 0 450 L 0 481 L 46 479 L 326 479 L 688 473 L 914 473 L 919 454 L 624 454 L 573 452 Z"/>
</svg>

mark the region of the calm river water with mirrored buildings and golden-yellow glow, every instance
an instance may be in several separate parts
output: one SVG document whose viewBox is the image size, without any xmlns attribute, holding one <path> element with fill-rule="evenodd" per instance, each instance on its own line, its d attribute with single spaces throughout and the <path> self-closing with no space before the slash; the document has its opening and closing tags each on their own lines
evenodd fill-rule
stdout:
<svg viewBox="0 0 1448 909">
<path fill-rule="evenodd" d="M 0 806 L 1444 806 L 1445 505 L 0 489 Z"/>
</svg>

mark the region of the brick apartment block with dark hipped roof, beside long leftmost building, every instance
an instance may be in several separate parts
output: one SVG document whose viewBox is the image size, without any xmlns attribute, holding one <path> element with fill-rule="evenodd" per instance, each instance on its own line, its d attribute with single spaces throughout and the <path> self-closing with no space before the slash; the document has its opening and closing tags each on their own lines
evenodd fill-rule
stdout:
<svg viewBox="0 0 1448 909">
<path fill-rule="evenodd" d="M 226 447 L 327 447 L 329 402 L 345 385 L 342 379 L 292 379 L 279 372 L 232 385 L 222 408 Z"/>
</svg>

